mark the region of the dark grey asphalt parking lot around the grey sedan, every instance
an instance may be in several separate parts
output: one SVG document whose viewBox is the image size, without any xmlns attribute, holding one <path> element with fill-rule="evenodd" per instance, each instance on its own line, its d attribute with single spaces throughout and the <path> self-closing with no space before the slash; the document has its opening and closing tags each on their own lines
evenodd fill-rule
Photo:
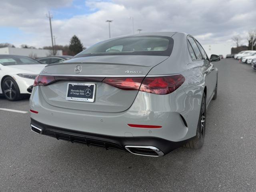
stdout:
<svg viewBox="0 0 256 192">
<path fill-rule="evenodd" d="M 29 113 L 0 110 L 1 192 L 256 192 L 256 71 L 234 59 L 219 69 L 203 148 L 164 157 L 87 147 L 30 131 Z M 29 110 L 29 100 L 0 108 Z"/>
</svg>

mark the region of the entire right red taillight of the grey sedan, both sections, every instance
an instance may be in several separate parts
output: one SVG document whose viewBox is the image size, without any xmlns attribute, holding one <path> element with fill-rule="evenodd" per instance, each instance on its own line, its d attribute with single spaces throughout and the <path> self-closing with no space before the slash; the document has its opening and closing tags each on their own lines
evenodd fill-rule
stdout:
<svg viewBox="0 0 256 192">
<path fill-rule="evenodd" d="M 172 93 L 182 83 L 185 77 L 171 75 L 164 77 L 106 77 L 103 83 L 126 90 L 140 90 L 147 93 L 166 95 Z"/>
</svg>

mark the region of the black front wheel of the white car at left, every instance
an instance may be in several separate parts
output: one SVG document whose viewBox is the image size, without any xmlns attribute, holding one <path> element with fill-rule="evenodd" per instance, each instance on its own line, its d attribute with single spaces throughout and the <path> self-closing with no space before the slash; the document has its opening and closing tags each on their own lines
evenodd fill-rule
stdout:
<svg viewBox="0 0 256 192">
<path fill-rule="evenodd" d="M 18 84 L 12 77 L 4 78 L 2 83 L 2 92 L 9 101 L 17 101 L 21 99 L 20 89 Z"/>
</svg>

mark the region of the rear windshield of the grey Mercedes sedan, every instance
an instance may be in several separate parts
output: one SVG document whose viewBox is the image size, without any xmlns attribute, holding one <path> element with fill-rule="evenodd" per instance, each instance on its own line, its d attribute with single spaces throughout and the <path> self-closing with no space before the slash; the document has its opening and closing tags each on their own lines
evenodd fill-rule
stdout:
<svg viewBox="0 0 256 192">
<path fill-rule="evenodd" d="M 166 36 L 125 37 L 100 42 L 78 53 L 76 57 L 98 55 L 162 55 L 170 56 L 173 39 Z"/>
</svg>

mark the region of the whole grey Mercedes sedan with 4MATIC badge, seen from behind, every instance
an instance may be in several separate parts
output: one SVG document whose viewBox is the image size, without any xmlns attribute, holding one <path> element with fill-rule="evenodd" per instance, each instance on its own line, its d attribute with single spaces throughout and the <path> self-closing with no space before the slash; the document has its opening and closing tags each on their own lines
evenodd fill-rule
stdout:
<svg viewBox="0 0 256 192">
<path fill-rule="evenodd" d="M 47 65 L 30 97 L 31 130 L 66 141 L 163 156 L 200 148 L 218 69 L 179 32 L 106 40 Z"/>
</svg>

